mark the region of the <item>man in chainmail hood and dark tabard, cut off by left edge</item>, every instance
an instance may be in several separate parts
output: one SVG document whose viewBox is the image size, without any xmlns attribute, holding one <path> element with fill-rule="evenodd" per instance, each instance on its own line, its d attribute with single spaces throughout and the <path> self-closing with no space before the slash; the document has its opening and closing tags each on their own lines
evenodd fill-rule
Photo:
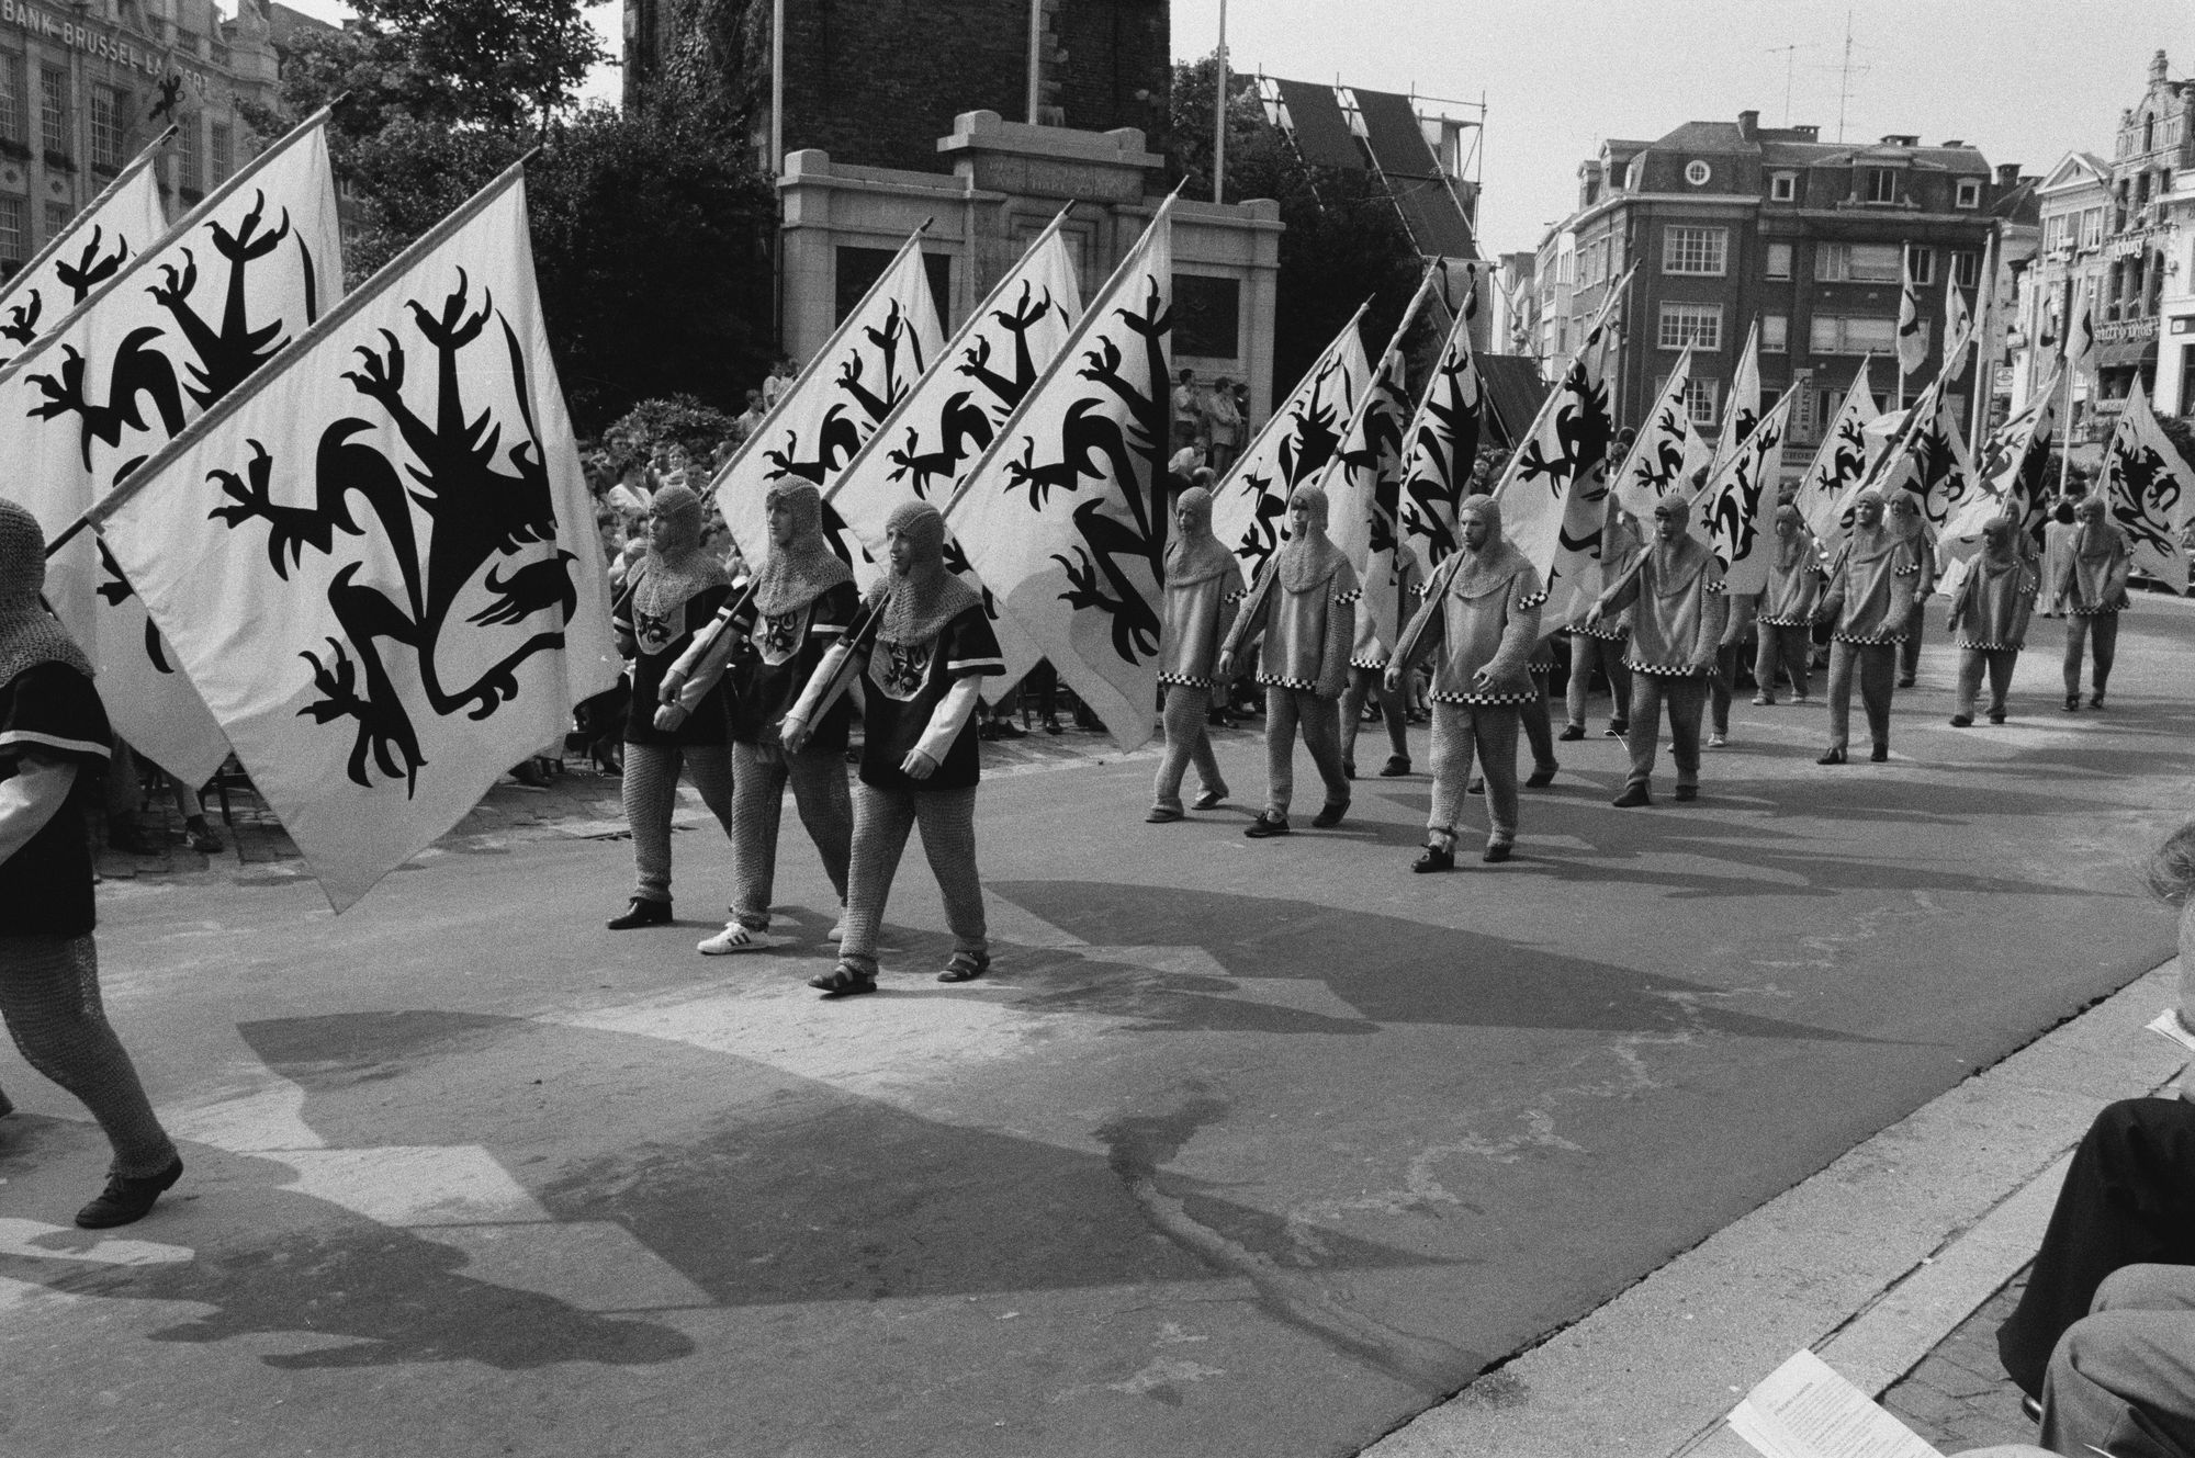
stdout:
<svg viewBox="0 0 2195 1458">
<path fill-rule="evenodd" d="M 105 1190 L 77 1212 L 105 1230 L 151 1210 L 182 1179 L 182 1155 L 99 1003 L 92 852 L 72 790 L 108 762 L 108 716 L 44 584 L 46 536 L 0 496 L 0 1017 L 24 1063 L 75 1094 L 114 1148 Z"/>
</svg>

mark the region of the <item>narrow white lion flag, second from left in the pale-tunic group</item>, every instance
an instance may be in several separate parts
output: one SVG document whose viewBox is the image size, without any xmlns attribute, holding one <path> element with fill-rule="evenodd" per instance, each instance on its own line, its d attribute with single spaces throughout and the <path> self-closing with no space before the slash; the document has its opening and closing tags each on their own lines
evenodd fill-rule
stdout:
<svg viewBox="0 0 2195 1458">
<path fill-rule="evenodd" d="M 1400 536 L 1403 501 L 1403 424 L 1409 419 L 1409 360 L 1403 356 L 1403 334 L 1396 329 L 1378 373 L 1357 402 L 1350 433 L 1341 450 L 1319 476 L 1326 492 L 1328 523 L 1335 547 L 1348 558 L 1363 584 L 1357 608 L 1357 641 L 1350 661 L 1361 668 L 1385 668 L 1387 654 L 1409 621 L 1403 580 L 1429 571 L 1416 562 Z M 1262 562 L 1262 558 L 1260 558 Z M 1249 577 L 1256 582 L 1256 577 Z"/>
</svg>

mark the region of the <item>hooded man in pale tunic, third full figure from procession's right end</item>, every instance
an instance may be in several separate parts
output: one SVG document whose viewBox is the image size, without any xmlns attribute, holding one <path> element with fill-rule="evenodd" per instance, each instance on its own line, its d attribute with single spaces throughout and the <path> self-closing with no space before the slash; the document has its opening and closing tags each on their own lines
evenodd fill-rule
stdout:
<svg viewBox="0 0 2195 1458">
<path fill-rule="evenodd" d="M 1881 492 L 1861 492 L 1853 534 L 1828 569 L 1828 591 L 1815 617 L 1828 619 L 1828 751 L 1815 764 L 1844 764 L 1853 740 L 1853 676 L 1868 711 L 1870 760 L 1890 758 L 1890 689 L 1899 643 L 1927 593 L 1927 569 L 1912 538 L 1883 520 Z"/>
</svg>

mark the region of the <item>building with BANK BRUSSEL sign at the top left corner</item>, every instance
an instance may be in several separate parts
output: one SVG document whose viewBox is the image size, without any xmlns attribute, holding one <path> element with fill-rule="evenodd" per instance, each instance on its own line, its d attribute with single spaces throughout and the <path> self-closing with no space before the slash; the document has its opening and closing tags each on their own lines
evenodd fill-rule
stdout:
<svg viewBox="0 0 2195 1458">
<path fill-rule="evenodd" d="M 281 53 L 325 29 L 272 0 L 0 0 L 0 277 L 13 274 L 169 123 L 180 215 L 248 152 Z"/>
</svg>

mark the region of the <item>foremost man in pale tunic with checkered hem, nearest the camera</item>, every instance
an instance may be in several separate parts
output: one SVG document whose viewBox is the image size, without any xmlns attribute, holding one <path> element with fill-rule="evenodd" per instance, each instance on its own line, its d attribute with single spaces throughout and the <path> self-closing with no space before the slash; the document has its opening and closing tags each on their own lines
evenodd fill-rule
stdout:
<svg viewBox="0 0 2195 1458">
<path fill-rule="evenodd" d="M 1526 659 L 1539 641 L 1539 608 L 1547 588 L 1532 562 L 1501 536 L 1501 505 L 1471 496 L 1455 520 L 1462 549 L 1427 584 L 1425 604 L 1403 628 L 1387 687 L 1400 692 L 1409 670 L 1433 654 L 1433 810 L 1414 872 L 1455 867 L 1455 826 L 1473 755 L 1486 775 L 1486 852 L 1508 861 L 1517 843 L 1517 727 L 1530 698 L 1545 698 Z"/>
</svg>

